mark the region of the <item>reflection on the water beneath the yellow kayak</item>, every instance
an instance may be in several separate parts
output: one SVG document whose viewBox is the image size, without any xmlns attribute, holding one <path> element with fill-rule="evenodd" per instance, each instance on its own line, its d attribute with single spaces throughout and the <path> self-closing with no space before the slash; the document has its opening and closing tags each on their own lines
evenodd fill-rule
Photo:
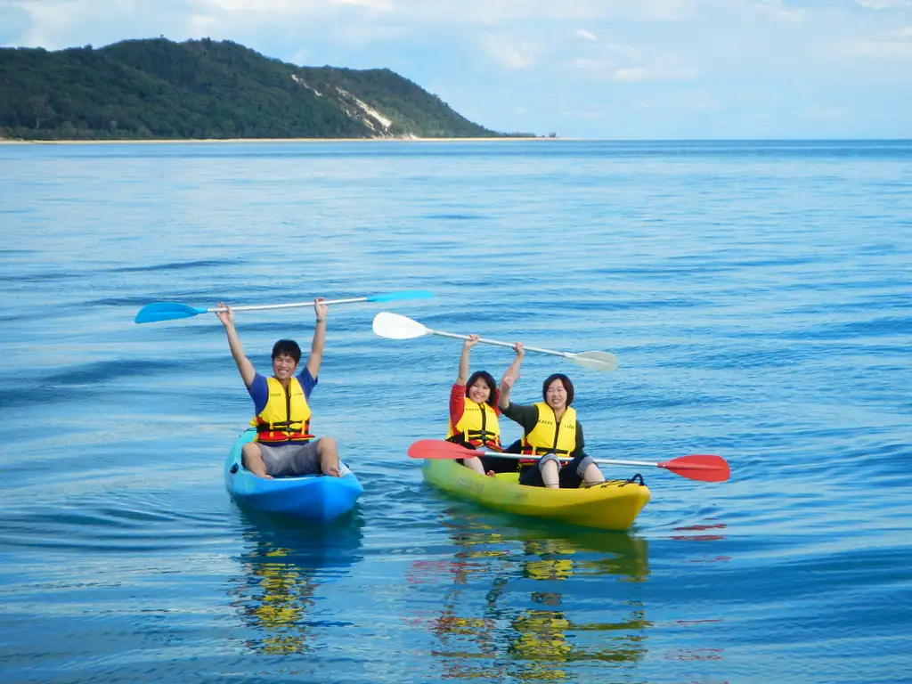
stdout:
<svg viewBox="0 0 912 684">
<path fill-rule="evenodd" d="M 413 564 L 410 582 L 430 571 L 452 584 L 430 629 L 447 679 L 559 681 L 573 662 L 636 663 L 651 627 L 644 606 L 611 598 L 606 581 L 645 582 L 648 544 L 620 533 L 495 529 L 471 517 L 442 523 L 456 551 L 444 567 Z M 489 586 L 483 603 L 477 586 Z M 592 594 L 605 596 L 607 621 L 585 619 Z M 618 593 L 617 596 L 626 596 Z M 581 600 L 583 599 L 583 600 Z M 580 617 L 575 617 L 575 614 Z M 613 615 L 612 615 L 613 614 Z"/>
</svg>

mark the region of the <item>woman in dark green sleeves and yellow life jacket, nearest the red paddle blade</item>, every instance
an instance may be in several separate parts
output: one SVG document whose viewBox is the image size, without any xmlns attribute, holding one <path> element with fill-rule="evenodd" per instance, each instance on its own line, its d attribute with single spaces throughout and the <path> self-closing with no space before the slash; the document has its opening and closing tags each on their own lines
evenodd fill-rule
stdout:
<svg viewBox="0 0 912 684">
<path fill-rule="evenodd" d="M 583 426 L 570 407 L 574 397 L 570 378 L 563 373 L 548 376 L 542 385 L 544 400 L 530 406 L 511 403 L 515 380 L 513 373 L 503 376 L 498 404 L 504 416 L 523 428 L 520 448 L 530 461 L 520 474 L 520 484 L 557 489 L 604 482 L 596 462 L 584 451 Z"/>
</svg>

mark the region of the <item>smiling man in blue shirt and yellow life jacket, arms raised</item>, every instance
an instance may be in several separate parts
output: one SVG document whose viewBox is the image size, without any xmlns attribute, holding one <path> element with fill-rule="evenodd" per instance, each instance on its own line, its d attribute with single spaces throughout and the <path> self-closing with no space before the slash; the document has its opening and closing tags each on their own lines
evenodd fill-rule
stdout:
<svg viewBox="0 0 912 684">
<path fill-rule="evenodd" d="M 273 376 L 265 378 L 244 356 L 244 347 L 234 329 L 234 312 L 219 303 L 226 311 L 216 312 L 222 321 L 228 346 L 251 399 L 254 399 L 256 428 L 254 441 L 244 444 L 244 467 L 259 477 L 272 479 L 285 475 L 326 475 L 339 477 L 336 440 L 332 437 L 314 439 L 310 433 L 310 406 L 307 399 L 316 385 L 317 372 L 326 345 L 326 312 L 323 297 L 314 300 L 316 326 L 305 367 L 295 375 L 301 360 L 301 347 L 293 339 L 280 339 L 273 346 Z"/>
</svg>

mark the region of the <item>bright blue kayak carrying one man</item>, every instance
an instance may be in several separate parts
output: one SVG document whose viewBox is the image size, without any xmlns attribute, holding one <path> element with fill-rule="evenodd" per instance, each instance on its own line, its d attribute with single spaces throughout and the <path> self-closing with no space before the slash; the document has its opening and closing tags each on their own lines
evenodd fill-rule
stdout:
<svg viewBox="0 0 912 684">
<path fill-rule="evenodd" d="M 307 523 L 329 523 L 355 507 L 364 487 L 341 463 L 342 477 L 303 475 L 267 480 L 248 471 L 241 464 L 241 449 L 255 434 L 256 430 L 244 430 L 225 461 L 225 486 L 235 501 Z"/>
</svg>

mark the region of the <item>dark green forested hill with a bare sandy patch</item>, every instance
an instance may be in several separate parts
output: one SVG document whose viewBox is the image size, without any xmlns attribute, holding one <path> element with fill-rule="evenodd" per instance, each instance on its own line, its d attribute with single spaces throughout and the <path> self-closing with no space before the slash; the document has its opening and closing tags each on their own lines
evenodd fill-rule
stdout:
<svg viewBox="0 0 912 684">
<path fill-rule="evenodd" d="M 0 48 L 0 137 L 477 138 L 389 69 L 295 67 L 231 41 Z"/>
</svg>

